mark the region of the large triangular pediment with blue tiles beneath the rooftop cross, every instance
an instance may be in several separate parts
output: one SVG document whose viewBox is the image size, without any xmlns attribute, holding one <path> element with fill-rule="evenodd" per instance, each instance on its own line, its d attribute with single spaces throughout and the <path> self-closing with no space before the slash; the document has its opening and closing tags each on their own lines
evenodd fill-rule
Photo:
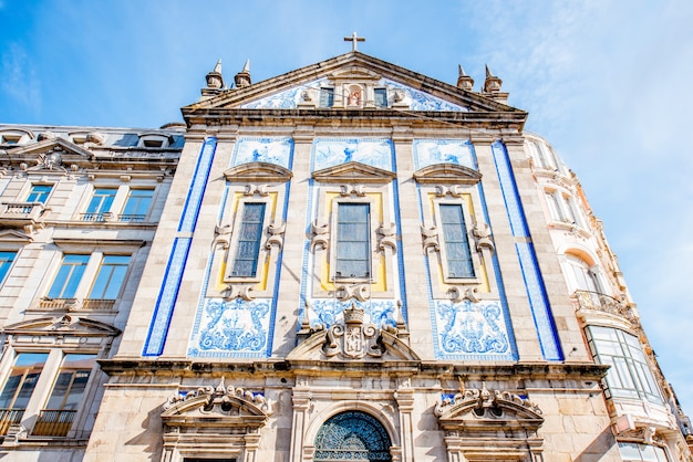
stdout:
<svg viewBox="0 0 693 462">
<path fill-rule="evenodd" d="M 333 108 L 353 108 L 340 103 L 346 85 L 369 83 L 387 88 L 386 108 L 416 112 L 507 113 L 524 122 L 526 114 L 493 97 L 458 88 L 424 74 L 406 70 L 361 52 L 345 53 L 283 75 L 251 85 L 221 91 L 214 97 L 185 106 L 183 115 L 190 119 L 206 111 L 218 109 L 320 109 L 320 88 L 333 87 Z M 395 96 L 396 95 L 396 96 Z M 370 96 L 372 97 L 372 96 Z M 369 97 L 362 108 L 370 107 Z M 372 102 L 371 102 L 372 103 Z M 375 106 L 372 106 L 375 108 Z M 309 115 L 308 113 L 301 115 Z"/>
</svg>

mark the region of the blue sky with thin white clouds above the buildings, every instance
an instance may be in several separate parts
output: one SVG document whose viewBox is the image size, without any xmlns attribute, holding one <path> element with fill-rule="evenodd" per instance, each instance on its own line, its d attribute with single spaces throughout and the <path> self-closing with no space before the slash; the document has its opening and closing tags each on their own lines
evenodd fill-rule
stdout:
<svg viewBox="0 0 693 462">
<path fill-rule="evenodd" d="M 424 7 L 425 6 L 425 7 Z M 454 84 L 488 64 L 579 176 L 693 413 L 693 2 L 0 0 L 0 123 L 158 127 L 220 57 L 254 82 L 350 50 Z"/>
</svg>

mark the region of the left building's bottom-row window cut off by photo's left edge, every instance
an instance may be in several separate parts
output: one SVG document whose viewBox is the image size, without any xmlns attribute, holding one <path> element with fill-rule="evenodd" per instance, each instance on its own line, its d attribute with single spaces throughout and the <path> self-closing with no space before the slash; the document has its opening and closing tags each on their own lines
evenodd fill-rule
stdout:
<svg viewBox="0 0 693 462">
<path fill-rule="evenodd" d="M 7 434 L 11 424 L 22 420 L 46 359 L 48 353 L 17 355 L 10 377 L 0 393 L 0 434 Z"/>
</svg>

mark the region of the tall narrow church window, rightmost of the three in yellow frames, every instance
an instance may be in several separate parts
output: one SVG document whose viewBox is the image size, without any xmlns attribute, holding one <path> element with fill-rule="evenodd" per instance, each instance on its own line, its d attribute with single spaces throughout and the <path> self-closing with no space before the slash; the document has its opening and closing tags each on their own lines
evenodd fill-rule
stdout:
<svg viewBox="0 0 693 462">
<path fill-rule="evenodd" d="M 474 264 L 462 206 L 441 204 L 439 210 L 449 277 L 474 277 Z"/>
</svg>

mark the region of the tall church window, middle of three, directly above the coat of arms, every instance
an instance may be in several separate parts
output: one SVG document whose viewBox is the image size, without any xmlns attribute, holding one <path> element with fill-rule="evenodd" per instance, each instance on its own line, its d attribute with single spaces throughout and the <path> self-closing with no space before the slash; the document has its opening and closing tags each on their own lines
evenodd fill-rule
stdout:
<svg viewBox="0 0 693 462">
<path fill-rule="evenodd" d="M 338 204 L 335 279 L 371 276 L 370 213 L 368 203 Z"/>
</svg>

